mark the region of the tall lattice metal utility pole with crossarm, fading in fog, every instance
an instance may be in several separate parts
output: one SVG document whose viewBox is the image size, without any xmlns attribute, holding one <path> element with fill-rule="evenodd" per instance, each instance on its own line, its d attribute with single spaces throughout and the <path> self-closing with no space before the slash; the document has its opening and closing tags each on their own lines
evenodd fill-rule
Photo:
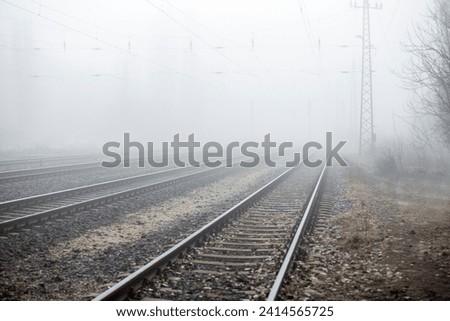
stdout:
<svg viewBox="0 0 450 321">
<path fill-rule="evenodd" d="M 370 10 L 381 9 L 382 5 L 369 4 L 369 0 L 363 0 L 359 5 L 351 1 L 350 6 L 363 9 L 363 34 L 362 34 L 362 69 L 361 69 L 361 112 L 359 132 L 359 153 L 371 152 L 375 145 L 375 133 L 373 130 L 373 98 L 372 98 L 372 47 L 370 43 Z"/>
</svg>

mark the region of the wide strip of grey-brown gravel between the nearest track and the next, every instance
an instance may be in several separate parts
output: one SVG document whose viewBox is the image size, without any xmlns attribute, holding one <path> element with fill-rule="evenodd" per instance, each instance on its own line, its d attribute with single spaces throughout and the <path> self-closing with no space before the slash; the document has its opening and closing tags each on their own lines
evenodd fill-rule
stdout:
<svg viewBox="0 0 450 321">
<path fill-rule="evenodd" d="M 278 172 L 219 169 L 195 181 L 10 233 L 0 240 L 0 298 L 90 299 Z"/>
</svg>

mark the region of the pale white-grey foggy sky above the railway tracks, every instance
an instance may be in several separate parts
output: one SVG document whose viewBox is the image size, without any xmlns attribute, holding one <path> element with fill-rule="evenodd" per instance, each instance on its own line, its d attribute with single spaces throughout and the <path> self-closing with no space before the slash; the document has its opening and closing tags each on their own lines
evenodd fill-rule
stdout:
<svg viewBox="0 0 450 321">
<path fill-rule="evenodd" d="M 428 3 L 371 10 L 378 143 L 405 114 L 400 43 Z M 0 1 L 0 150 L 100 153 L 124 132 L 301 142 L 332 131 L 352 148 L 361 33 L 347 0 Z"/>
</svg>

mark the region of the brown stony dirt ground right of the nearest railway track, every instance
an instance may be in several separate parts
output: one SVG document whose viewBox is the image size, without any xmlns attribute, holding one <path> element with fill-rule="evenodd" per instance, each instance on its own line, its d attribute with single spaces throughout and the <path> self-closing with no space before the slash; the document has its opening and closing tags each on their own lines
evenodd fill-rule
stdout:
<svg viewBox="0 0 450 321">
<path fill-rule="evenodd" d="M 332 218 L 302 245 L 282 298 L 449 300 L 449 177 L 362 168 L 333 169 Z"/>
</svg>

